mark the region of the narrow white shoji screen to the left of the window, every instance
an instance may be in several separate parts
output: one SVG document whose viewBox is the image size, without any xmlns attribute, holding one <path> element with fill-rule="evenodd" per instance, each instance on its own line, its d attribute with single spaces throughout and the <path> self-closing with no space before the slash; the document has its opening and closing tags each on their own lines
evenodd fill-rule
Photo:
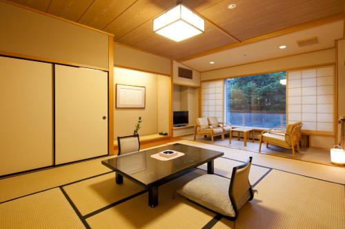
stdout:
<svg viewBox="0 0 345 229">
<path fill-rule="evenodd" d="M 201 83 L 201 116 L 223 121 L 224 80 Z"/>
</svg>

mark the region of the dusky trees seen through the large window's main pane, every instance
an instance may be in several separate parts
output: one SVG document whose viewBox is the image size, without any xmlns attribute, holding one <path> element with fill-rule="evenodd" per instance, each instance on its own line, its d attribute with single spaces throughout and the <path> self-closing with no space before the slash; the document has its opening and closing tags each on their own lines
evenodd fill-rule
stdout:
<svg viewBox="0 0 345 229">
<path fill-rule="evenodd" d="M 227 110 L 286 111 L 286 72 L 229 78 L 226 80 Z M 274 112 L 273 112 L 274 113 Z"/>
</svg>

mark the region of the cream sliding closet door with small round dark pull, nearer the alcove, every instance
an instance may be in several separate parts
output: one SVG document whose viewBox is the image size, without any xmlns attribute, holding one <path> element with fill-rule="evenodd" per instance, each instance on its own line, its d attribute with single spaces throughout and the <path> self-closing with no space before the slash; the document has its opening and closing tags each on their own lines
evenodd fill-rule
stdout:
<svg viewBox="0 0 345 229">
<path fill-rule="evenodd" d="M 108 154 L 108 73 L 55 65 L 55 164 Z"/>
</svg>

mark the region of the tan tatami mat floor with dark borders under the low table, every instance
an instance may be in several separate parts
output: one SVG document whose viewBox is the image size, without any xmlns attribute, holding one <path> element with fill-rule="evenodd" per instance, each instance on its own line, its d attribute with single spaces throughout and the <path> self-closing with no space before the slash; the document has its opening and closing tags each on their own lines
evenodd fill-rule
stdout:
<svg viewBox="0 0 345 229">
<path fill-rule="evenodd" d="M 161 186 L 159 206 L 150 208 L 146 191 L 127 179 L 115 184 L 101 158 L 0 179 L 1 228 L 345 228 L 345 168 L 179 143 L 224 152 L 215 160 L 224 177 L 253 156 L 249 179 L 258 193 L 235 222 L 174 195 L 206 173 L 204 165 Z"/>
</svg>

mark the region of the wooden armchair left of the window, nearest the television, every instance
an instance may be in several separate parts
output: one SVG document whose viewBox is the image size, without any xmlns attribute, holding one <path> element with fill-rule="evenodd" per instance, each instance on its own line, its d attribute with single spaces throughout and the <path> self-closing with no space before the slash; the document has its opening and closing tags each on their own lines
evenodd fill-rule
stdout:
<svg viewBox="0 0 345 229">
<path fill-rule="evenodd" d="M 196 140 L 197 135 L 210 135 L 212 143 L 215 142 L 214 137 L 217 135 L 221 135 L 221 139 L 224 140 L 224 131 L 221 124 L 214 124 L 213 126 L 208 124 L 207 118 L 197 118 L 197 124 L 194 127 L 194 140 Z"/>
</svg>

